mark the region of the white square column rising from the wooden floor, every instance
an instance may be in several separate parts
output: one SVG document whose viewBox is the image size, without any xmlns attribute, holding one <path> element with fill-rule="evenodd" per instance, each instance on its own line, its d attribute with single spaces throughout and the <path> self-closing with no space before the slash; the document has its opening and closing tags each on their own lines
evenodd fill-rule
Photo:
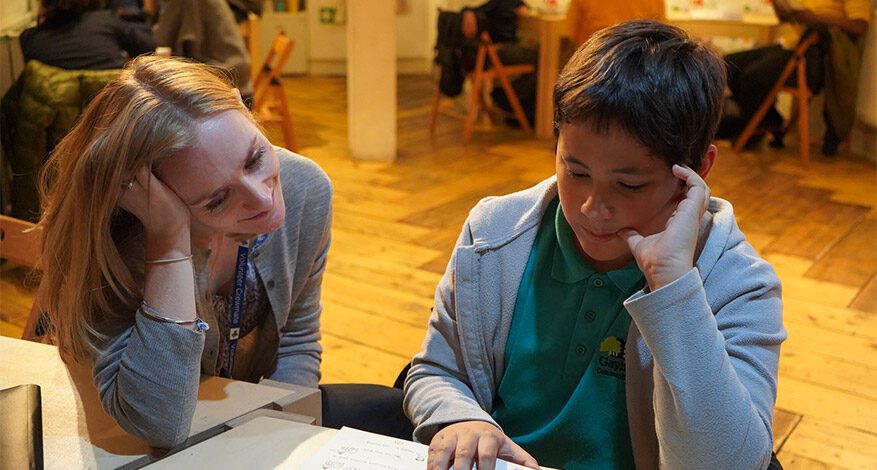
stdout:
<svg viewBox="0 0 877 470">
<path fill-rule="evenodd" d="M 347 1 L 347 127 L 355 159 L 396 159 L 396 0 Z"/>
</svg>

